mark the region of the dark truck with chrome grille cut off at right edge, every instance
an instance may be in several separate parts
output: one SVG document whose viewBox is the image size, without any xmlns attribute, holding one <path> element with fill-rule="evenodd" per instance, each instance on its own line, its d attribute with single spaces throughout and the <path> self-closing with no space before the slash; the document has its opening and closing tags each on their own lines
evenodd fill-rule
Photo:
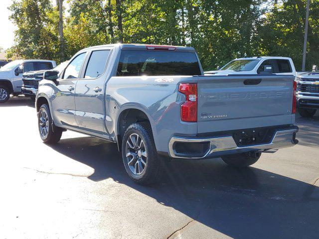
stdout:
<svg viewBox="0 0 319 239">
<path fill-rule="evenodd" d="M 297 75 L 297 107 L 302 117 L 313 117 L 319 109 L 319 71 Z"/>
</svg>

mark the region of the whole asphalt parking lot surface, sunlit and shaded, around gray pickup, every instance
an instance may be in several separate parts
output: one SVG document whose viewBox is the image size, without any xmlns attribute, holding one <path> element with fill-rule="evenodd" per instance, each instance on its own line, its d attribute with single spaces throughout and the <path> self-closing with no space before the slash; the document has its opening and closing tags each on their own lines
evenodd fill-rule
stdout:
<svg viewBox="0 0 319 239">
<path fill-rule="evenodd" d="M 34 103 L 0 105 L 0 238 L 319 237 L 319 114 L 299 144 L 246 169 L 173 160 L 159 185 L 127 176 L 117 145 L 66 131 L 42 143 Z"/>
</svg>

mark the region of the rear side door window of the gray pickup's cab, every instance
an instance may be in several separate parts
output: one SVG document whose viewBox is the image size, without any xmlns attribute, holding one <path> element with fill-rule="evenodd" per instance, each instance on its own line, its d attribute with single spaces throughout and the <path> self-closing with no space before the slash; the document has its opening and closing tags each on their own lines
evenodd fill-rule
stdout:
<svg viewBox="0 0 319 239">
<path fill-rule="evenodd" d="M 85 71 L 85 78 L 97 78 L 104 73 L 110 50 L 92 51 Z"/>
</svg>

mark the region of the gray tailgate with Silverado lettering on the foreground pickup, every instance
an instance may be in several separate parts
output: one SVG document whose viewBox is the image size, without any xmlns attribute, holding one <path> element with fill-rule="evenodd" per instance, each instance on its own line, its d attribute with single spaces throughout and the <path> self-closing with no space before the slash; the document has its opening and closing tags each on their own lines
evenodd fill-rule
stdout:
<svg viewBox="0 0 319 239">
<path fill-rule="evenodd" d="M 197 132 L 294 123 L 294 80 L 293 75 L 199 76 Z"/>
</svg>

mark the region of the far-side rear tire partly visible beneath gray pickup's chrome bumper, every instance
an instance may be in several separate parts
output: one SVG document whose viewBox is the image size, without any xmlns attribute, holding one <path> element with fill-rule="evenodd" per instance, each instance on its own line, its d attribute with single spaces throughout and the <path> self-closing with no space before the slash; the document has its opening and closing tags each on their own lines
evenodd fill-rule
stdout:
<svg viewBox="0 0 319 239">
<path fill-rule="evenodd" d="M 227 163 L 229 166 L 242 168 L 248 167 L 258 161 L 261 153 L 248 152 L 223 156 L 222 160 Z"/>
</svg>

